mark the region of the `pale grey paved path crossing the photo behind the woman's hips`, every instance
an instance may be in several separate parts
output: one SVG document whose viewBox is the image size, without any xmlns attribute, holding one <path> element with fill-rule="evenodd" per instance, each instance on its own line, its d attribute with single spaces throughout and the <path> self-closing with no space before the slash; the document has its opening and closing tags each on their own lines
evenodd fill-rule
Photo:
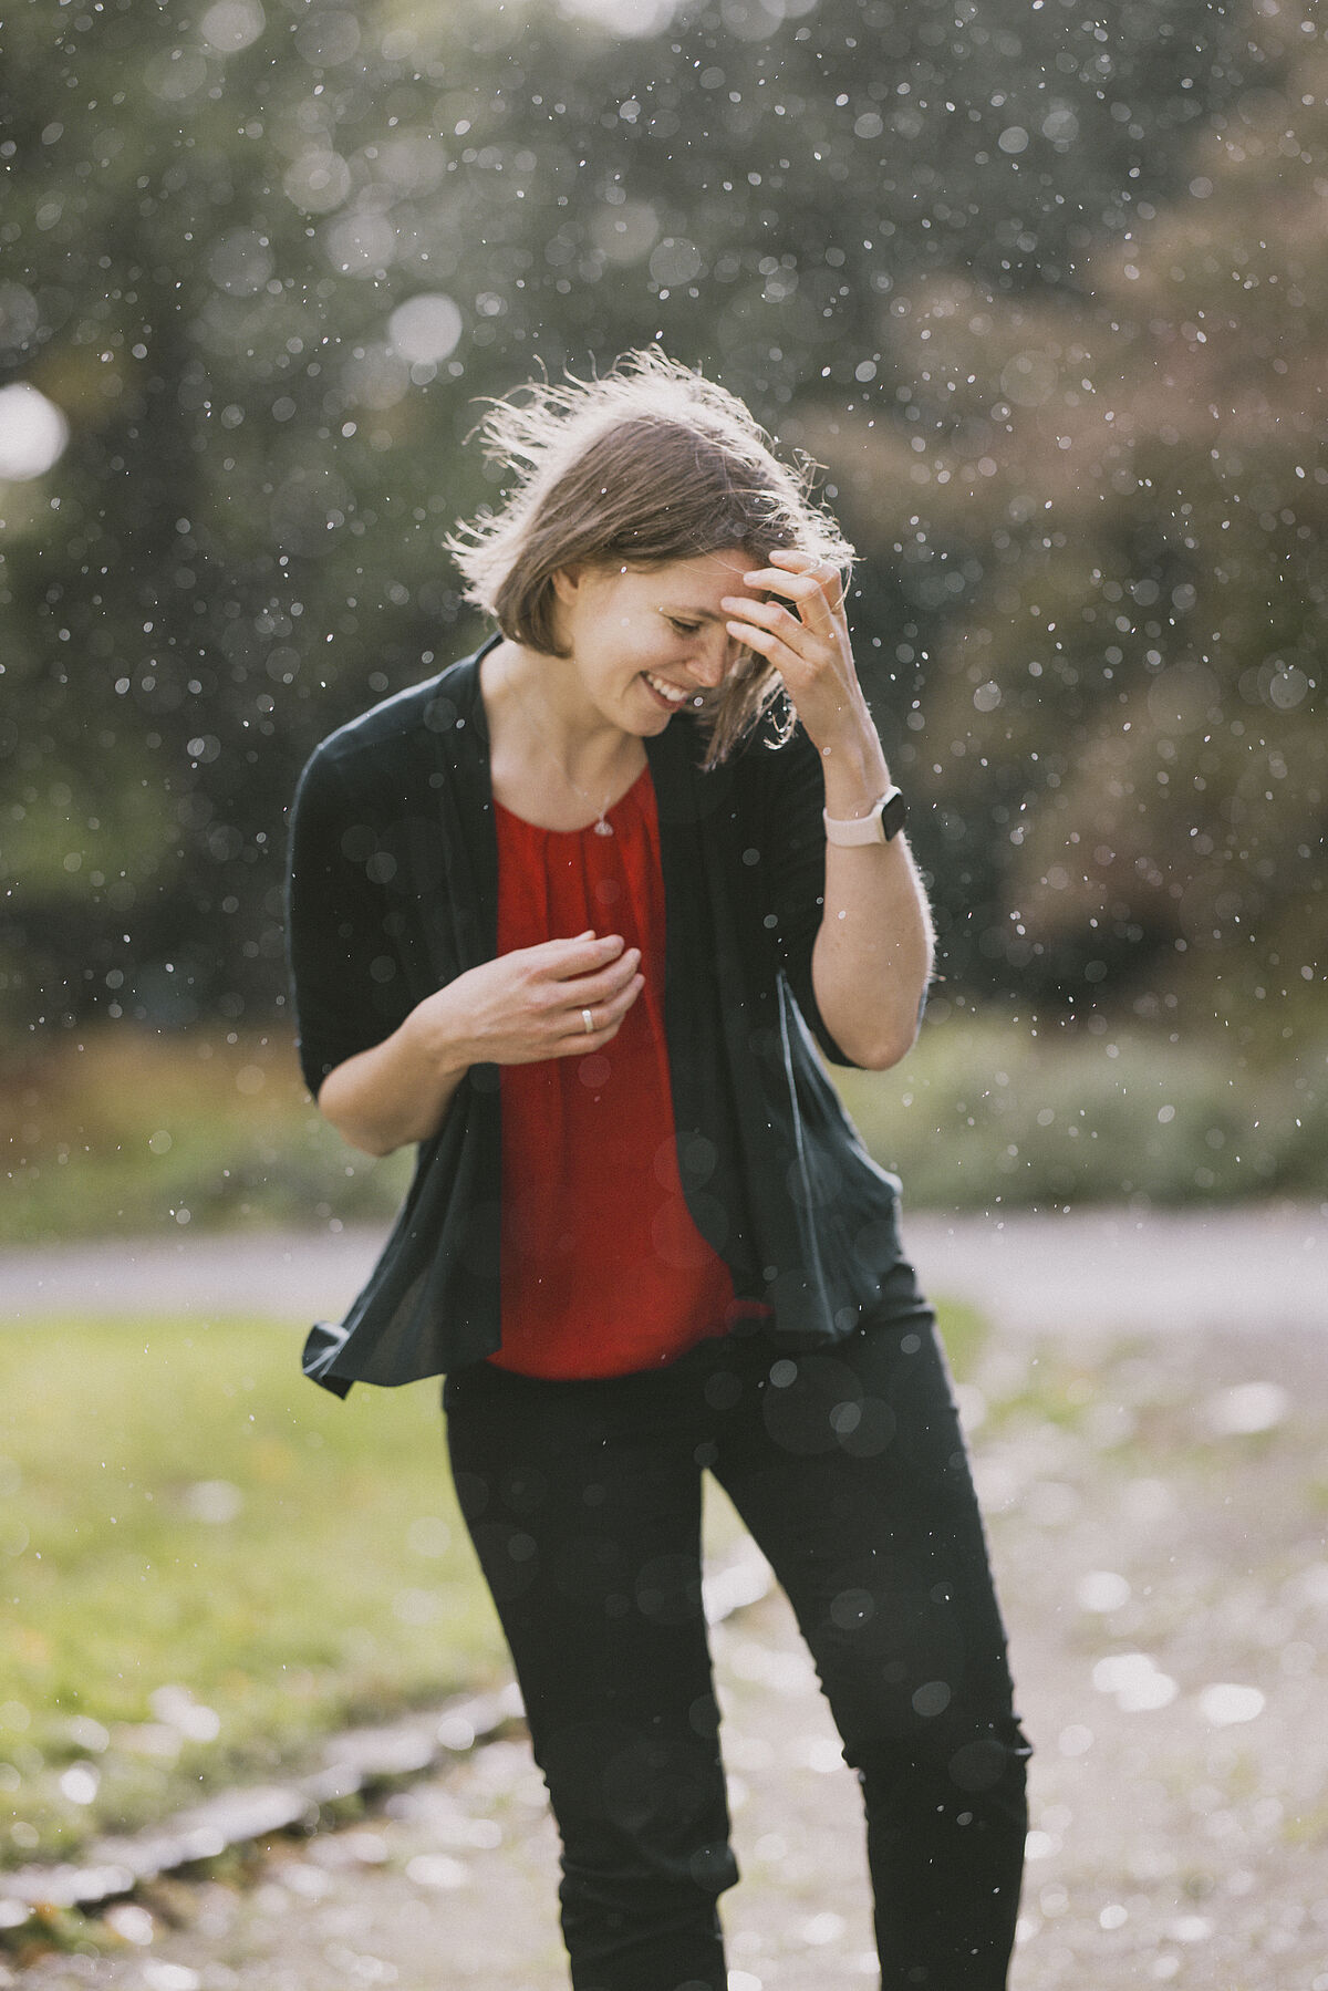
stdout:
<svg viewBox="0 0 1328 1991">
<path fill-rule="evenodd" d="M 0 1258 L 0 1320 L 52 1312 L 338 1318 L 382 1232 L 175 1232 Z M 906 1217 L 924 1286 L 1003 1332 L 1328 1330 L 1328 1205 Z"/>
</svg>

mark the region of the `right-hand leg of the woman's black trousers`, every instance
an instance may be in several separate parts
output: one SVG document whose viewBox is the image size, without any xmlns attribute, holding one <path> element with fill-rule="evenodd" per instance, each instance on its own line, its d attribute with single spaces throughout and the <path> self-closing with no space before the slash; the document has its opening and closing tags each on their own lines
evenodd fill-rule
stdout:
<svg viewBox="0 0 1328 1991">
<path fill-rule="evenodd" d="M 882 1985 L 999 1991 L 1027 1744 L 944 1356 L 912 1272 L 826 1354 L 749 1344 L 715 1473 L 788 1593 L 858 1770 Z M 715 1388 L 715 1382 L 711 1384 Z"/>
</svg>

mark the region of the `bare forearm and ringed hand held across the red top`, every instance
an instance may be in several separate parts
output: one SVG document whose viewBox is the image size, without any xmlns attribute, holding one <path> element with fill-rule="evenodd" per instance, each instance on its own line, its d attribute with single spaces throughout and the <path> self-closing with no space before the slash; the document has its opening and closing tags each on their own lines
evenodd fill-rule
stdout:
<svg viewBox="0 0 1328 1991">
<path fill-rule="evenodd" d="M 639 962 L 617 934 L 546 940 L 484 962 L 418 1003 L 382 1043 L 329 1071 L 319 1111 L 368 1155 L 428 1141 L 472 1065 L 583 1057 L 609 1043 L 641 994 Z"/>
</svg>

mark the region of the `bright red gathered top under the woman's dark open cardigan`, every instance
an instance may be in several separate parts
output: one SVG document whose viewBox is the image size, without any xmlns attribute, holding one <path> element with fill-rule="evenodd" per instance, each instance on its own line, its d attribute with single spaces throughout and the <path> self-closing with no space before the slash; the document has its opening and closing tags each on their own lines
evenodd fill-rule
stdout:
<svg viewBox="0 0 1328 1991">
<path fill-rule="evenodd" d="M 643 769 L 613 836 L 542 830 L 494 806 L 498 952 L 593 928 L 641 948 L 645 988 L 585 1057 L 504 1065 L 502 1350 L 522 1376 L 625 1376 L 681 1356 L 735 1316 L 727 1264 L 677 1171 L 663 1025 L 665 896 Z"/>
</svg>

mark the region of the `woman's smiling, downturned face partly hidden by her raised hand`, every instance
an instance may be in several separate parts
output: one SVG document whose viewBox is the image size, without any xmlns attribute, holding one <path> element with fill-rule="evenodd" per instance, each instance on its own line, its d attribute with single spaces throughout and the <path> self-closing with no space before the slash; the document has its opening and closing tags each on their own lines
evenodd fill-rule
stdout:
<svg viewBox="0 0 1328 1991">
<path fill-rule="evenodd" d="M 749 595 L 757 565 L 741 548 L 667 567 L 577 567 L 557 573 L 569 703 L 623 733 L 663 733 L 699 693 L 715 691 L 741 645 L 725 627 L 725 595 Z M 559 701 L 561 703 L 561 701 Z"/>
</svg>

